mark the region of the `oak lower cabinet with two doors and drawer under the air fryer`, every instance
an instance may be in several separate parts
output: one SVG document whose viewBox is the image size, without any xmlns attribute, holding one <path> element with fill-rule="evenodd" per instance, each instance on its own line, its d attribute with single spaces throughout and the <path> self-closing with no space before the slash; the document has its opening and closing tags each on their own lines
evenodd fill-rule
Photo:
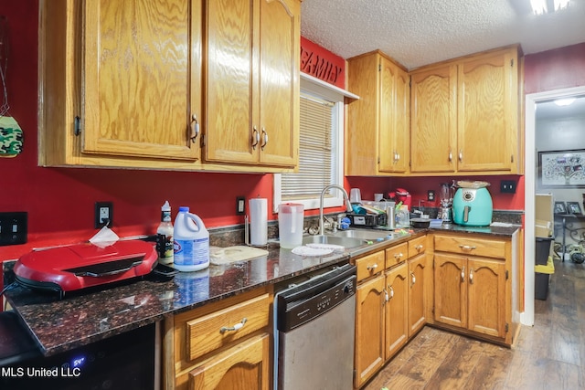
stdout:
<svg viewBox="0 0 585 390">
<path fill-rule="evenodd" d="M 434 324 L 512 345 L 519 323 L 517 236 L 434 235 Z"/>
</svg>

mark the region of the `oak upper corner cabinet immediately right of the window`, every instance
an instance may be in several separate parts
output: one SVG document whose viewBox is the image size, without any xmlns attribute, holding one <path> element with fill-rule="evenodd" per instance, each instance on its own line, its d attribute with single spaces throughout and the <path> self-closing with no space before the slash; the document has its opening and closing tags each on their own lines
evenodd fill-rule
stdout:
<svg viewBox="0 0 585 390">
<path fill-rule="evenodd" d="M 348 59 L 346 174 L 405 174 L 410 164 L 410 77 L 383 53 Z"/>
</svg>

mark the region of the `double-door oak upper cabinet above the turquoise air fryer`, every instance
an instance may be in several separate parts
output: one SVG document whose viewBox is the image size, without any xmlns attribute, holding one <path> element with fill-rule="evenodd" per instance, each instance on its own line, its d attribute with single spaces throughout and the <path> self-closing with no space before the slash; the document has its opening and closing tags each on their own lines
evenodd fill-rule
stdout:
<svg viewBox="0 0 585 390">
<path fill-rule="evenodd" d="M 521 173 L 518 47 L 411 72 L 412 173 Z"/>
</svg>

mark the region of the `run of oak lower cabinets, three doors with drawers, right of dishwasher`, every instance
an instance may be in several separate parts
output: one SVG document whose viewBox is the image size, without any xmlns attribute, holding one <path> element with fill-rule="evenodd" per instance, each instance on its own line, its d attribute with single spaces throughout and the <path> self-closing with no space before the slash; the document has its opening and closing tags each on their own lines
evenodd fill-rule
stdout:
<svg viewBox="0 0 585 390">
<path fill-rule="evenodd" d="M 427 321 L 432 292 L 427 239 L 416 237 L 356 259 L 355 388 L 377 374 Z"/>
</svg>

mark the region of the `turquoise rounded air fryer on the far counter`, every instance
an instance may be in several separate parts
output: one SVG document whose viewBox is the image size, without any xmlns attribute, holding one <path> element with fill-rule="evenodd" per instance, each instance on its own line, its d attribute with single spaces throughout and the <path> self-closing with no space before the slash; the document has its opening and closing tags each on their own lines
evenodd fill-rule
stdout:
<svg viewBox="0 0 585 390">
<path fill-rule="evenodd" d="M 453 196 L 453 221 L 468 227 L 487 227 L 492 223 L 494 207 L 486 182 L 457 182 Z"/>
</svg>

